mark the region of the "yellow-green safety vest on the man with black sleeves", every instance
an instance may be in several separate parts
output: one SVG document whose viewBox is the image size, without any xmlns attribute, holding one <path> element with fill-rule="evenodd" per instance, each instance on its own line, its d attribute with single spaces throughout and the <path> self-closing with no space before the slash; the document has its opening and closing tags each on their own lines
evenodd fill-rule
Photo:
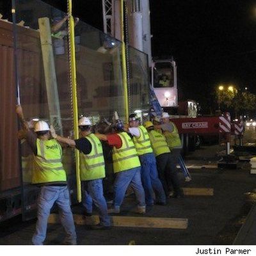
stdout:
<svg viewBox="0 0 256 256">
<path fill-rule="evenodd" d="M 105 161 L 100 140 L 91 133 L 85 137 L 92 145 L 90 154 L 80 152 L 81 180 L 96 180 L 105 177 Z"/>
</svg>

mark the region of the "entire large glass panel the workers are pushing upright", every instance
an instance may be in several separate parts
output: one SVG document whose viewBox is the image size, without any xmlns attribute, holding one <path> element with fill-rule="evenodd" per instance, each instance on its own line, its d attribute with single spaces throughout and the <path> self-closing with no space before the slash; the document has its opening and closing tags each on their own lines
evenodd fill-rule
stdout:
<svg viewBox="0 0 256 256">
<path fill-rule="evenodd" d="M 20 102 L 31 121 L 40 118 L 54 125 L 63 136 L 73 138 L 70 73 L 66 13 L 39 0 L 16 0 L 18 78 Z M 75 28 L 77 101 L 79 116 L 89 116 L 99 132 L 106 120 L 113 122 L 114 111 L 125 120 L 121 43 L 79 21 Z M 148 110 L 147 54 L 129 47 L 129 110 Z M 141 114 L 142 115 L 142 114 Z M 104 145 L 106 192 L 111 191 L 113 168 L 111 149 Z M 76 202 L 74 150 L 64 148 L 63 164 L 68 174 L 72 202 Z M 32 154 L 22 143 L 24 219 L 35 209 L 38 190 L 31 186 Z"/>
</svg>

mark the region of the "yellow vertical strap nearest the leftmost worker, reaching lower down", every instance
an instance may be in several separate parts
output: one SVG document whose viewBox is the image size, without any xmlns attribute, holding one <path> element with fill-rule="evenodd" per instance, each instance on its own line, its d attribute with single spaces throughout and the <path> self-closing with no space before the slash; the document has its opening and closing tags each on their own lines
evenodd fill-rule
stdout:
<svg viewBox="0 0 256 256">
<path fill-rule="evenodd" d="M 76 83 L 76 44 L 75 44 L 75 24 L 72 17 L 72 0 L 68 0 L 68 49 L 69 49 L 69 67 L 70 83 L 72 88 L 72 109 L 74 118 L 74 138 L 79 138 L 78 131 L 78 108 L 77 108 L 77 83 Z M 81 180 L 79 151 L 75 150 L 76 157 L 76 181 L 77 181 L 77 201 L 81 202 Z"/>
</svg>

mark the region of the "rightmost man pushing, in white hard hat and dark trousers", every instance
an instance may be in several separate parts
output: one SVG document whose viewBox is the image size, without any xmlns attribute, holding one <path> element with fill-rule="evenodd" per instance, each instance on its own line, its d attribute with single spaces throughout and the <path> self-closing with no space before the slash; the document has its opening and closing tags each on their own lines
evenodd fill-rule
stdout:
<svg viewBox="0 0 256 256">
<path fill-rule="evenodd" d="M 163 124 L 161 124 L 160 127 L 163 131 L 164 137 L 166 138 L 167 145 L 170 148 L 170 151 L 171 151 L 170 154 L 172 156 L 171 157 L 172 162 L 170 164 L 170 168 L 172 169 L 172 172 L 177 172 L 176 166 L 179 163 L 180 151 L 182 149 L 179 132 L 176 125 L 170 121 L 170 116 L 168 113 L 163 112 L 161 120 Z M 172 196 L 170 185 L 168 186 L 169 186 L 170 196 Z M 176 197 L 178 195 L 174 193 L 173 196 Z"/>
</svg>

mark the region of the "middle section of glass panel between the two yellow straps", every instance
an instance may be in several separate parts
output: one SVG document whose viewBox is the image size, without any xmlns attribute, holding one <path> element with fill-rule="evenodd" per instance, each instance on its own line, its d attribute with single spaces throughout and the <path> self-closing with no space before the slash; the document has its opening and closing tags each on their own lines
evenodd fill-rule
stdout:
<svg viewBox="0 0 256 256">
<path fill-rule="evenodd" d="M 76 26 L 77 97 L 79 115 L 89 116 L 98 132 L 106 132 L 104 120 L 113 122 L 114 111 L 125 120 L 121 44 L 115 38 L 82 21 Z M 104 191 L 112 192 L 111 148 L 102 143 L 106 162 Z"/>
</svg>

